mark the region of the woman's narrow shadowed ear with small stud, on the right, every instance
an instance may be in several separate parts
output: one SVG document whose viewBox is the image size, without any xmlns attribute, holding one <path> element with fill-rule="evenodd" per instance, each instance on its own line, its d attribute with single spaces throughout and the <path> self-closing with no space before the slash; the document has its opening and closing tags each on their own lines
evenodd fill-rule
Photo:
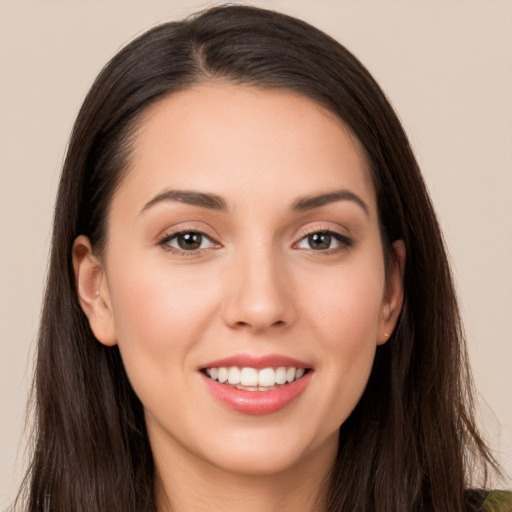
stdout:
<svg viewBox="0 0 512 512">
<path fill-rule="evenodd" d="M 403 278 L 406 257 L 404 241 L 395 241 L 392 248 L 393 257 L 390 258 L 386 272 L 386 287 L 382 302 L 377 345 L 386 343 L 391 336 L 404 302 Z"/>
</svg>

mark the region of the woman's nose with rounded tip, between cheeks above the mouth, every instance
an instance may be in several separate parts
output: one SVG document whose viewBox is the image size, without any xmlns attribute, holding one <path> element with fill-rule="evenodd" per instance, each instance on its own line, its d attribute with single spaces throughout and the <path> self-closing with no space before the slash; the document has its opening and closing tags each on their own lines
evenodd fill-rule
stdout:
<svg viewBox="0 0 512 512">
<path fill-rule="evenodd" d="M 223 315 L 234 329 L 262 332 L 285 328 L 297 317 L 285 264 L 271 250 L 239 254 L 229 269 Z"/>
</svg>

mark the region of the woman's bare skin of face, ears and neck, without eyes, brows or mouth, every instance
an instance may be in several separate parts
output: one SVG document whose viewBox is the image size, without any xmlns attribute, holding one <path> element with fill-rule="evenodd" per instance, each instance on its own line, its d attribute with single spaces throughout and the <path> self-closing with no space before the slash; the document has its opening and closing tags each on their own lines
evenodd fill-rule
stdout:
<svg viewBox="0 0 512 512">
<path fill-rule="evenodd" d="M 292 208 L 340 189 L 365 206 Z M 226 209 L 148 205 L 175 190 L 215 194 Z M 208 238 L 180 250 L 179 230 Z M 313 247 L 308 235 L 326 231 L 341 241 Z M 339 426 L 402 305 L 405 255 L 400 241 L 393 247 L 386 269 L 363 151 L 311 100 L 209 83 L 149 109 L 103 253 L 81 236 L 73 257 L 92 330 L 119 345 L 144 405 L 160 510 L 166 496 L 176 511 L 322 509 Z M 311 380 L 276 413 L 232 411 L 198 368 L 240 353 L 299 359 Z"/>
</svg>

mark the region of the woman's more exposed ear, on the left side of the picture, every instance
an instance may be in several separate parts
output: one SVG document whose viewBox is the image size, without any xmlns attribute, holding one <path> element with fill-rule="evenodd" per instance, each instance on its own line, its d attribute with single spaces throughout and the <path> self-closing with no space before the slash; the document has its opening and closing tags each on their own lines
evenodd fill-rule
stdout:
<svg viewBox="0 0 512 512">
<path fill-rule="evenodd" d="M 94 336 L 104 345 L 115 345 L 117 337 L 105 270 L 84 235 L 73 243 L 73 268 L 78 301 Z"/>
</svg>

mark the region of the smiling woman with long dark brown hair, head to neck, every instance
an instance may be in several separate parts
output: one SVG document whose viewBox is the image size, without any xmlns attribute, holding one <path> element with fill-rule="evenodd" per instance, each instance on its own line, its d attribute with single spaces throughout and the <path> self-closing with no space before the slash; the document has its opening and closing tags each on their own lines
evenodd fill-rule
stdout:
<svg viewBox="0 0 512 512">
<path fill-rule="evenodd" d="M 30 511 L 496 499 L 469 491 L 494 461 L 407 138 L 346 49 L 283 15 L 211 9 L 100 74 L 36 372 Z"/>
</svg>

